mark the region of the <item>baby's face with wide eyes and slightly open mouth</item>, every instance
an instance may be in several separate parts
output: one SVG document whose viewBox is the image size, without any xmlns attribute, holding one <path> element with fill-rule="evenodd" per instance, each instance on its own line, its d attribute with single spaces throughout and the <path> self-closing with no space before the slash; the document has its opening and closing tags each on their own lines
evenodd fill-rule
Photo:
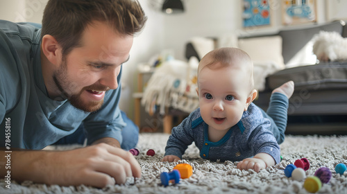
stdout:
<svg viewBox="0 0 347 194">
<path fill-rule="evenodd" d="M 198 99 L 203 121 L 212 130 L 229 130 L 246 110 L 250 94 L 246 70 L 239 67 L 203 68 L 198 75 Z"/>
</svg>

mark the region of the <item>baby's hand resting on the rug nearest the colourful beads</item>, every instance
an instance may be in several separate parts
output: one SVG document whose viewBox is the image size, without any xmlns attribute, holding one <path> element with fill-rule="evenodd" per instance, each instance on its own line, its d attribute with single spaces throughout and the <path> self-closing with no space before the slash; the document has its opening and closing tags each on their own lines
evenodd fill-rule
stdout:
<svg viewBox="0 0 347 194">
<path fill-rule="evenodd" d="M 271 155 L 266 153 L 259 153 L 253 158 L 246 158 L 242 161 L 239 161 L 237 168 L 240 170 L 253 169 L 255 172 L 259 173 L 260 170 L 265 169 L 269 166 L 275 165 L 275 160 Z"/>
</svg>

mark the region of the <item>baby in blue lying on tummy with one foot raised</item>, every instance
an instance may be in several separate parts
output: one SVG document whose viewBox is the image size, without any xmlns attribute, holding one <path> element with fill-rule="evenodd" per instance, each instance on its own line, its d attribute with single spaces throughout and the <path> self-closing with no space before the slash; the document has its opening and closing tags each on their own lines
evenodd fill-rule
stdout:
<svg viewBox="0 0 347 194">
<path fill-rule="evenodd" d="M 219 48 L 198 65 L 200 107 L 172 129 L 162 161 L 178 161 L 195 143 L 203 159 L 239 161 L 256 172 L 280 162 L 294 82 L 273 90 L 265 113 L 252 102 L 253 62 L 238 48 Z"/>
</svg>

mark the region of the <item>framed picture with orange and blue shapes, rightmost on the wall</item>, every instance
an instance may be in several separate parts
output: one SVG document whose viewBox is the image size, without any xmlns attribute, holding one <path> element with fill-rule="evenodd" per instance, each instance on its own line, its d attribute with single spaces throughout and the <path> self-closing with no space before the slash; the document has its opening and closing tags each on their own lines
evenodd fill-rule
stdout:
<svg viewBox="0 0 347 194">
<path fill-rule="evenodd" d="M 284 25 L 316 22 L 316 0 L 282 0 Z"/>
</svg>

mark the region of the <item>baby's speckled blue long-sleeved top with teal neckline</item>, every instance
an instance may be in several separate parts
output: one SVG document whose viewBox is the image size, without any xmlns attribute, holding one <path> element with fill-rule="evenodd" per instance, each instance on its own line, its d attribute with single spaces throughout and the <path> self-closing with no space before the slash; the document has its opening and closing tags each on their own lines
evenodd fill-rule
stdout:
<svg viewBox="0 0 347 194">
<path fill-rule="evenodd" d="M 280 146 L 269 127 L 269 119 L 264 118 L 260 109 L 251 103 L 237 125 L 232 126 L 221 140 L 212 142 L 208 139 L 208 124 L 203 121 L 198 108 L 172 129 L 165 155 L 182 159 L 188 145 L 194 142 L 203 159 L 242 161 L 258 153 L 267 153 L 278 164 Z"/>
</svg>

